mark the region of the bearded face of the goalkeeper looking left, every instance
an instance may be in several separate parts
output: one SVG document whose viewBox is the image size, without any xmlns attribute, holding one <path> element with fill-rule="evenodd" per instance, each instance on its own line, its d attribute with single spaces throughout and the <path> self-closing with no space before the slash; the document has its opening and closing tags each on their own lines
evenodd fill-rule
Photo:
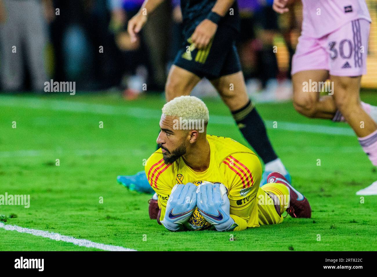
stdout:
<svg viewBox="0 0 377 277">
<path fill-rule="evenodd" d="M 175 119 L 175 117 L 162 114 L 160 120 L 161 132 L 156 142 L 162 149 L 165 164 L 171 164 L 185 155 L 189 145 L 190 130 L 176 128 Z"/>
</svg>

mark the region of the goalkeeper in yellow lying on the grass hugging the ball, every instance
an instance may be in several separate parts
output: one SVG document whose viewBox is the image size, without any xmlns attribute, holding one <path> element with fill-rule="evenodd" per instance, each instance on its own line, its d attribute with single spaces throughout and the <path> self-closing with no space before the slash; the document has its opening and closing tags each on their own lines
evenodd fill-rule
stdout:
<svg viewBox="0 0 377 277">
<path fill-rule="evenodd" d="M 150 211 L 158 205 L 158 220 L 168 230 L 196 230 L 187 223 L 198 216 L 218 231 L 277 224 L 286 210 L 293 217 L 311 216 L 308 200 L 281 174 L 271 173 L 259 187 L 258 157 L 233 139 L 207 135 L 208 120 L 207 107 L 194 96 L 179 96 L 162 108 L 161 148 L 145 172 L 158 198 Z"/>
</svg>

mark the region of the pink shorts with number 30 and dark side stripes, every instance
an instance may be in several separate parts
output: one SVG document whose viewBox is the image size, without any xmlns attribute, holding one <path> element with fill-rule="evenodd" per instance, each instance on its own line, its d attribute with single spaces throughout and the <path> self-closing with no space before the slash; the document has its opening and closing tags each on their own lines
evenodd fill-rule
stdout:
<svg viewBox="0 0 377 277">
<path fill-rule="evenodd" d="M 301 35 L 292 59 L 292 75 L 316 69 L 334 76 L 364 75 L 369 28 L 368 20 L 356 19 L 321 38 Z"/>
</svg>

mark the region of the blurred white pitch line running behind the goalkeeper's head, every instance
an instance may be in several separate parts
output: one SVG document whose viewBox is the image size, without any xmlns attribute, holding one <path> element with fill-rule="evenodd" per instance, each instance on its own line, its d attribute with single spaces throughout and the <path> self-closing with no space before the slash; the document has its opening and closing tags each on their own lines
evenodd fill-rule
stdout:
<svg viewBox="0 0 377 277">
<path fill-rule="evenodd" d="M 94 113 L 103 115 L 124 115 L 135 118 L 158 119 L 161 110 L 111 106 L 104 104 L 87 104 L 67 100 L 51 100 L 44 98 L 28 98 L 0 96 L 0 106 L 23 107 L 27 109 L 47 109 L 77 113 Z M 234 125 L 231 116 L 211 115 L 211 124 Z M 273 128 L 273 121 L 265 121 L 267 129 Z M 278 121 L 278 130 L 288 130 L 292 132 L 319 133 L 326 135 L 355 136 L 351 128 L 333 127 L 326 125 L 303 124 L 294 122 Z M 276 129 L 275 129 L 276 130 Z"/>
</svg>

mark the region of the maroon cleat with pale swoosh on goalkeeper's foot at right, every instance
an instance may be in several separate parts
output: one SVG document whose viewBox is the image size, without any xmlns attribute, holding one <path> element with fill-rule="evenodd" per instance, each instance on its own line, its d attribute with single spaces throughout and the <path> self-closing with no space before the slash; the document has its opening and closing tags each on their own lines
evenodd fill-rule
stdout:
<svg viewBox="0 0 377 277">
<path fill-rule="evenodd" d="M 283 184 L 290 190 L 290 203 L 287 212 L 291 217 L 311 217 L 311 208 L 308 199 L 305 198 L 299 191 L 285 179 L 279 172 L 270 173 L 267 176 L 267 183 Z"/>
</svg>

